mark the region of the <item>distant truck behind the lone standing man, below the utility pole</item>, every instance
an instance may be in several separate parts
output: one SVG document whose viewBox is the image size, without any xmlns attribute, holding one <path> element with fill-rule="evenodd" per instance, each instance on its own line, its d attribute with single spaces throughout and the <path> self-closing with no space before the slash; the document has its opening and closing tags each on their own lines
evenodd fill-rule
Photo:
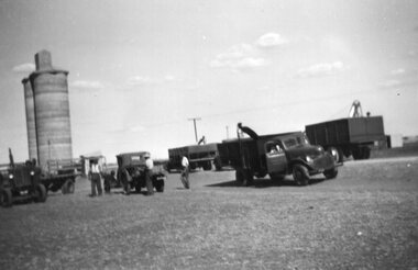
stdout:
<svg viewBox="0 0 418 270">
<path fill-rule="evenodd" d="M 211 170 L 212 164 L 217 170 L 221 170 L 218 143 L 205 145 L 188 145 L 177 148 L 168 149 L 168 164 L 167 170 L 180 170 L 182 158 L 187 157 L 189 160 L 190 169 L 202 168 L 204 170 Z"/>
</svg>

